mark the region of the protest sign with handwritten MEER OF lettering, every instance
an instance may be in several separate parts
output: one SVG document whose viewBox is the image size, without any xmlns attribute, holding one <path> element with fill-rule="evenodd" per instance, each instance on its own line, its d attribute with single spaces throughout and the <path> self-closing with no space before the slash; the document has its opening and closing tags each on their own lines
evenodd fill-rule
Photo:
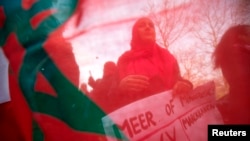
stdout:
<svg viewBox="0 0 250 141">
<path fill-rule="evenodd" d="M 111 118 L 129 141 L 206 141 L 208 124 L 223 124 L 209 82 L 192 93 L 173 98 L 171 91 L 126 105 L 104 117 L 105 132 L 117 136 Z"/>
</svg>

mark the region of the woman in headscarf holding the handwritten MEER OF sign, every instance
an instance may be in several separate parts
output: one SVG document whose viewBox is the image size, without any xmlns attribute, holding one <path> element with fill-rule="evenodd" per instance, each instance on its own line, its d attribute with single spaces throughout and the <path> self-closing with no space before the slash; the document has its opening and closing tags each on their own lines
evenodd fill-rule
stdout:
<svg viewBox="0 0 250 141">
<path fill-rule="evenodd" d="M 193 89 L 190 81 L 180 76 L 176 58 L 155 41 L 154 23 L 139 18 L 132 28 L 131 49 L 118 58 L 119 86 L 113 99 L 120 107 L 133 101 L 172 90 L 173 94 Z"/>
</svg>

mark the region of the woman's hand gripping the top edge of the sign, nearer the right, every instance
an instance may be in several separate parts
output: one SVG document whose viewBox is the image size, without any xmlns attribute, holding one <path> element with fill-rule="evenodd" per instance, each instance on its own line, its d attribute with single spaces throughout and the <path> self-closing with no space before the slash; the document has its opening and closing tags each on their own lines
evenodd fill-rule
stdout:
<svg viewBox="0 0 250 141">
<path fill-rule="evenodd" d="M 181 94 L 186 94 L 193 90 L 193 85 L 185 82 L 185 81 L 178 81 L 173 88 L 173 96 L 178 96 Z"/>
</svg>

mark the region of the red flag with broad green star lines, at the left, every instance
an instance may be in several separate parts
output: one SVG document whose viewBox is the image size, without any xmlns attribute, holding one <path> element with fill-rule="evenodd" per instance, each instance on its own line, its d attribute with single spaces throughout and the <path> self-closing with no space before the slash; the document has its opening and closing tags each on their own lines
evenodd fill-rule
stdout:
<svg viewBox="0 0 250 141">
<path fill-rule="evenodd" d="M 79 90 L 79 68 L 62 34 L 82 14 L 83 3 L 0 1 L 0 47 L 9 62 L 11 97 L 0 104 L 0 140 L 126 140 L 115 124 L 112 133 L 105 131 L 107 115 Z"/>
</svg>

